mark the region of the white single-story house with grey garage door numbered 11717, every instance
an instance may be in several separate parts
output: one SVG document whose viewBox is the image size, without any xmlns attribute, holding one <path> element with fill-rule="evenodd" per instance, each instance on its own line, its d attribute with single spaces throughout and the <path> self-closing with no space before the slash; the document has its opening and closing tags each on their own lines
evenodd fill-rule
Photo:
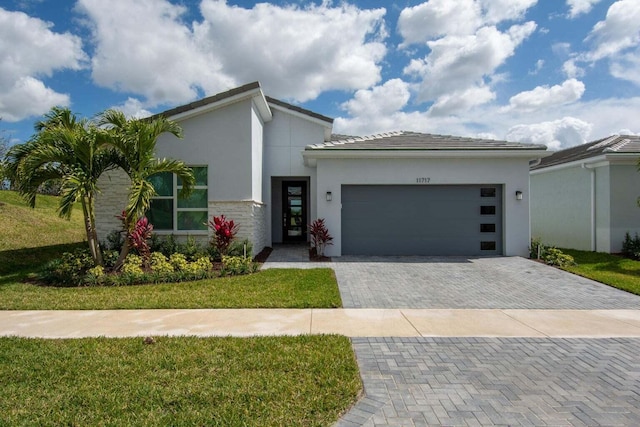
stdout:
<svg viewBox="0 0 640 427">
<path fill-rule="evenodd" d="M 184 139 L 163 136 L 158 156 L 192 166 L 198 185 L 179 200 L 175 177 L 153 180 L 160 233 L 206 236 L 205 222 L 224 214 L 257 253 L 308 241 L 307 225 L 325 218 L 330 256 L 528 253 L 529 162 L 544 146 L 415 132 L 332 138 L 333 119 L 266 97 L 259 83 L 162 115 Z M 126 184 L 122 173 L 100 182 L 102 239 L 119 227 Z"/>
</svg>

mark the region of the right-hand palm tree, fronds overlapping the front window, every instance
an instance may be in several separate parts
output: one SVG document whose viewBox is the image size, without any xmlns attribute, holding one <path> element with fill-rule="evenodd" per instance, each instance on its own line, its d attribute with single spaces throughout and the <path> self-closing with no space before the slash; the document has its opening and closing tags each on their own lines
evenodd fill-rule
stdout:
<svg viewBox="0 0 640 427">
<path fill-rule="evenodd" d="M 157 193 L 149 182 L 152 175 L 169 172 L 182 180 L 180 195 L 186 197 L 195 185 L 191 168 L 184 162 L 173 159 L 156 158 L 156 143 L 163 133 L 182 138 L 182 128 L 164 117 L 151 119 L 127 119 L 117 110 L 107 110 L 98 117 L 98 125 L 117 153 L 116 163 L 131 180 L 129 201 L 125 208 L 125 231 L 131 231 L 138 219 L 151 206 L 151 199 Z M 123 245 L 115 268 L 124 263 L 129 252 L 128 242 Z"/>
</svg>

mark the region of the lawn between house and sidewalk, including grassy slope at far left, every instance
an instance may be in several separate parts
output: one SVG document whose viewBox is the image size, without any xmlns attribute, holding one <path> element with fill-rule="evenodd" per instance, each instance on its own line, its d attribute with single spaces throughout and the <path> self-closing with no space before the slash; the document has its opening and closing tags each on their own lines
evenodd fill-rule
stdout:
<svg viewBox="0 0 640 427">
<path fill-rule="evenodd" d="M 195 282 L 122 287 L 57 288 L 25 278 L 62 252 L 84 247 L 80 209 L 71 220 L 56 215 L 57 199 L 38 196 L 36 209 L 12 191 L 0 191 L 0 309 L 88 310 L 148 308 L 341 307 L 330 269 L 265 270 Z"/>
</svg>

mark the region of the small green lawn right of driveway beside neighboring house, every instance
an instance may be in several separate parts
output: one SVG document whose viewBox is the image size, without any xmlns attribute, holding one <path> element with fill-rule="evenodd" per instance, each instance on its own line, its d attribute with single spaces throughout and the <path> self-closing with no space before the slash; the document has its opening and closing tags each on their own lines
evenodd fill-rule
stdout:
<svg viewBox="0 0 640 427">
<path fill-rule="evenodd" d="M 640 295 L 640 261 L 601 252 L 562 249 L 577 265 L 564 269 L 609 286 Z"/>
</svg>

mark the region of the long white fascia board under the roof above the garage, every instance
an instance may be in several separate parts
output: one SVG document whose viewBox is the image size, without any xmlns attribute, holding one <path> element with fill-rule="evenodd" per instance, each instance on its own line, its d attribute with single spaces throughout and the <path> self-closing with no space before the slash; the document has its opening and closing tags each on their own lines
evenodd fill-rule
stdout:
<svg viewBox="0 0 640 427">
<path fill-rule="evenodd" d="M 304 150 L 306 166 L 318 159 L 527 159 L 536 160 L 551 153 L 546 150 Z"/>
</svg>

